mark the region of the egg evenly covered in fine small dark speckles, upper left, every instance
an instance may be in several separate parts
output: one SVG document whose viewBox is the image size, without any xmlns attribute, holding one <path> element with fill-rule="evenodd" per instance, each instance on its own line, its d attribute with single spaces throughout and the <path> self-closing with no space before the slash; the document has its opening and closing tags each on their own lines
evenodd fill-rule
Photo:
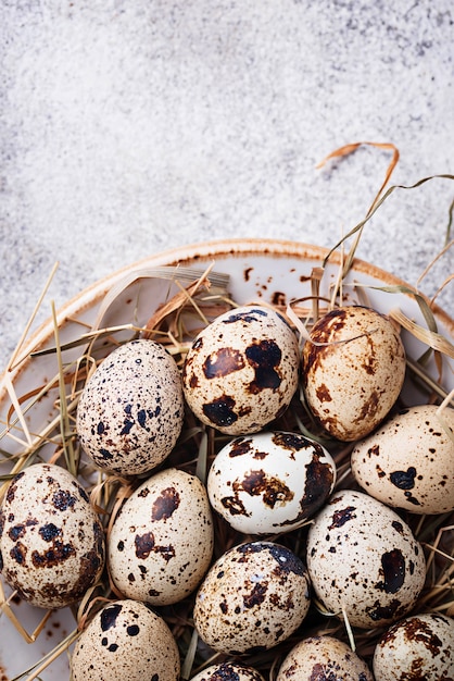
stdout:
<svg viewBox="0 0 454 681">
<path fill-rule="evenodd" d="M 122 475 L 161 463 L 182 420 L 178 367 L 162 345 L 146 339 L 113 350 L 87 381 L 77 407 L 84 450 L 100 468 Z"/>
</svg>

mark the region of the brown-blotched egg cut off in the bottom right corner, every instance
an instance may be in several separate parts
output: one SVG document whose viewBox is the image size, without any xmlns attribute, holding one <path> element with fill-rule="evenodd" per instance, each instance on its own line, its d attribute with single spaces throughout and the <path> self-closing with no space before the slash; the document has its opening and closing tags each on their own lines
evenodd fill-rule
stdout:
<svg viewBox="0 0 454 681">
<path fill-rule="evenodd" d="M 415 615 L 391 627 L 374 653 L 376 681 L 450 681 L 454 678 L 454 620 Z"/>
</svg>

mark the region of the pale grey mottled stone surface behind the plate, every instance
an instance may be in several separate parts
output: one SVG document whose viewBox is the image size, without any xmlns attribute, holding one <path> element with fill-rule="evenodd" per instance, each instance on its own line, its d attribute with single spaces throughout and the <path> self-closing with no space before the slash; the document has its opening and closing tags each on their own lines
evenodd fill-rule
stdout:
<svg viewBox="0 0 454 681">
<path fill-rule="evenodd" d="M 332 246 L 392 184 L 453 171 L 449 0 L 7 0 L 0 8 L 1 366 L 53 263 L 59 306 L 181 243 Z M 415 284 L 452 181 L 396 190 L 358 256 Z M 450 250 L 423 280 L 453 272 Z M 452 286 L 440 298 L 453 313 Z M 50 314 L 49 300 L 38 317 Z"/>
</svg>

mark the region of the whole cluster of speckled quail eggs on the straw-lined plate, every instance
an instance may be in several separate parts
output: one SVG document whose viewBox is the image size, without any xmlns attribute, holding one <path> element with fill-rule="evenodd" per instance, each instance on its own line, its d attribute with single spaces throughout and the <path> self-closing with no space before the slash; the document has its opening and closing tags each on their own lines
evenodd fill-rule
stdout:
<svg viewBox="0 0 454 681">
<path fill-rule="evenodd" d="M 210 323 L 181 368 L 149 339 L 112 351 L 77 409 L 85 455 L 135 481 L 105 538 L 58 466 L 16 475 L 0 511 L 0 568 L 30 603 L 76 603 L 106 570 L 113 598 L 77 640 L 75 681 L 176 681 L 165 614 L 186 599 L 199 649 L 222 658 L 193 681 L 264 681 L 248 660 L 282 643 L 277 681 L 447 679 L 454 620 L 413 612 L 426 558 L 401 511 L 454 510 L 454 410 L 399 411 L 404 376 L 399 331 L 361 306 L 327 313 L 302 348 L 282 315 L 249 306 Z M 321 437 L 282 426 L 299 386 Z M 206 484 L 173 459 L 188 414 L 219 435 Z M 351 444 L 351 488 L 330 442 Z M 380 629 L 374 660 L 311 632 L 312 612 Z"/>
</svg>

